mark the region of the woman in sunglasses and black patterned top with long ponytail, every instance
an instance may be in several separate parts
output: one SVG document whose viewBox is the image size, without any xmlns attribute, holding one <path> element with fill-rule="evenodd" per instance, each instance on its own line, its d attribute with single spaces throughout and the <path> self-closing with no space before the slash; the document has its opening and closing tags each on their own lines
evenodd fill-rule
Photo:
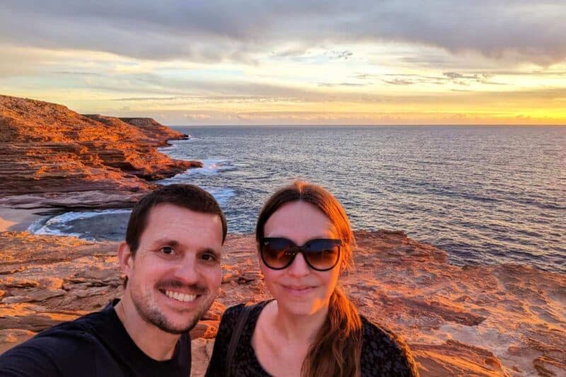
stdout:
<svg viewBox="0 0 566 377">
<path fill-rule="evenodd" d="M 224 313 L 207 376 L 417 376 L 407 346 L 360 316 L 337 285 L 354 237 L 340 203 L 294 182 L 265 204 L 260 268 L 275 300 Z"/>
</svg>

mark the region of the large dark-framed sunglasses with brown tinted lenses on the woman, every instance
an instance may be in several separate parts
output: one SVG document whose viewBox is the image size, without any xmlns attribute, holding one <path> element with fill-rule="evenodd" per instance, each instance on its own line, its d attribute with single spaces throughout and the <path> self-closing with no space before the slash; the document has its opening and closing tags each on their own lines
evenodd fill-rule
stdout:
<svg viewBox="0 0 566 377">
<path fill-rule="evenodd" d="M 317 238 L 298 246 L 287 238 L 265 237 L 260 239 L 260 255 L 263 264 L 270 269 L 284 269 L 302 253 L 308 267 L 328 271 L 340 260 L 341 245 L 341 240 Z"/>
</svg>

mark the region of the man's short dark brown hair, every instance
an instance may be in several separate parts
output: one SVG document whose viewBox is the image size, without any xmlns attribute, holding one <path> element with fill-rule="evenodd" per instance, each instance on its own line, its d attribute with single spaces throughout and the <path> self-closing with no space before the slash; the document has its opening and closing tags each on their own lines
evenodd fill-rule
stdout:
<svg viewBox="0 0 566 377">
<path fill-rule="evenodd" d="M 141 238 L 141 233 L 144 233 L 146 229 L 149 212 L 157 204 L 173 204 L 191 211 L 220 216 L 222 221 L 222 243 L 226 240 L 226 233 L 228 232 L 226 217 L 220 209 L 218 202 L 209 192 L 195 185 L 167 185 L 159 187 L 154 192 L 150 192 L 134 205 L 132 214 L 129 215 L 126 231 L 126 243 L 132 255 L 135 255 L 139 247 L 139 239 Z"/>
</svg>

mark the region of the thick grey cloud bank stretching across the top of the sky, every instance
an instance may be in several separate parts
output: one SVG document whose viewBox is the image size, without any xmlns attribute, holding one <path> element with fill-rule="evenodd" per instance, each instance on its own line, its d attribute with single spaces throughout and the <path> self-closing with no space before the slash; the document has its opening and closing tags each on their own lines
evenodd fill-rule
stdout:
<svg viewBox="0 0 566 377">
<path fill-rule="evenodd" d="M 128 57 L 253 64 L 300 42 L 408 42 L 548 65 L 566 57 L 562 0 L 4 1 L 0 42 Z M 297 51 L 289 51 L 294 54 Z M 352 57 L 340 51 L 340 59 Z M 284 52 L 282 52 L 284 53 Z"/>
</svg>

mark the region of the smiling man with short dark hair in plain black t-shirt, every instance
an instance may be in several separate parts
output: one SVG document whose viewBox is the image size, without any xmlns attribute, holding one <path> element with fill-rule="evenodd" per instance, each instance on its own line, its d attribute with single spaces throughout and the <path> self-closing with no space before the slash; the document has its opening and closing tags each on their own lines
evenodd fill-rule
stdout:
<svg viewBox="0 0 566 377">
<path fill-rule="evenodd" d="M 1 376 L 190 376 L 187 332 L 221 284 L 226 219 L 208 192 L 169 185 L 132 210 L 121 300 L 0 356 Z"/>
</svg>

